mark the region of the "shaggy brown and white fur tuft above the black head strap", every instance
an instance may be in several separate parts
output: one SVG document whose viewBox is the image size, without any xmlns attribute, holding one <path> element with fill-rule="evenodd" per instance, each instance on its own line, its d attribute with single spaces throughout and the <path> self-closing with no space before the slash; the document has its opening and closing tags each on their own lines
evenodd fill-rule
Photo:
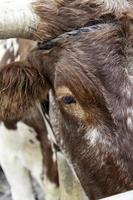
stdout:
<svg viewBox="0 0 133 200">
<path fill-rule="evenodd" d="M 46 0 L 33 3 L 33 8 L 40 17 L 35 36 L 45 41 L 95 21 L 133 17 L 132 0 Z"/>
</svg>

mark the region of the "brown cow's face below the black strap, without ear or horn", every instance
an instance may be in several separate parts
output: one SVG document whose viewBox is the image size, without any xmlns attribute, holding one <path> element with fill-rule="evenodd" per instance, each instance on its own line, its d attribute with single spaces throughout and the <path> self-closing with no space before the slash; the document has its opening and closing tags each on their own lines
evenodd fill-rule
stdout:
<svg viewBox="0 0 133 200">
<path fill-rule="evenodd" d="M 50 83 L 56 140 L 92 199 L 133 188 L 130 28 L 103 24 L 29 57 Z"/>
</svg>

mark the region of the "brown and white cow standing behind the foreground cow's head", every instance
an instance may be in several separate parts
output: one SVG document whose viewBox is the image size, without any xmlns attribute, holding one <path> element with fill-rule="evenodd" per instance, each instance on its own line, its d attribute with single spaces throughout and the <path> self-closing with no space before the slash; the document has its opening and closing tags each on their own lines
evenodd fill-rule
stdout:
<svg viewBox="0 0 133 200">
<path fill-rule="evenodd" d="M 24 60 L 34 45 L 32 41 L 21 39 L 1 41 L 1 67 Z M 27 110 L 21 121 L 0 122 L 0 165 L 13 200 L 35 200 L 31 177 L 40 185 L 46 200 L 59 200 L 56 154 L 48 138 L 51 130 L 48 122 L 46 127 L 39 106 L 38 103 Z"/>
</svg>

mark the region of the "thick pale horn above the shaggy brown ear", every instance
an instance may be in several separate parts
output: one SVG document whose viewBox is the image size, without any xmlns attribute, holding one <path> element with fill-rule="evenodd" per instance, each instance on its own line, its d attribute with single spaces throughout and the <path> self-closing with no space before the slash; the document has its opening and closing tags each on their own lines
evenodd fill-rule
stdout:
<svg viewBox="0 0 133 200">
<path fill-rule="evenodd" d="M 37 39 L 39 16 L 33 3 L 34 0 L 0 0 L 0 39 Z"/>
</svg>

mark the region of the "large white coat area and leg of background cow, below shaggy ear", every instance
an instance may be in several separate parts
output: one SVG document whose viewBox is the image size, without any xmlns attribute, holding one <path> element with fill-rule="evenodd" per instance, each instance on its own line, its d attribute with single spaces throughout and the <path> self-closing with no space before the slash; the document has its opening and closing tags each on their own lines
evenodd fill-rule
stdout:
<svg viewBox="0 0 133 200">
<path fill-rule="evenodd" d="M 44 189 L 42 181 L 43 157 L 33 128 L 23 122 L 16 130 L 0 123 L 0 164 L 10 183 L 14 200 L 34 200 L 30 176 Z"/>
</svg>

